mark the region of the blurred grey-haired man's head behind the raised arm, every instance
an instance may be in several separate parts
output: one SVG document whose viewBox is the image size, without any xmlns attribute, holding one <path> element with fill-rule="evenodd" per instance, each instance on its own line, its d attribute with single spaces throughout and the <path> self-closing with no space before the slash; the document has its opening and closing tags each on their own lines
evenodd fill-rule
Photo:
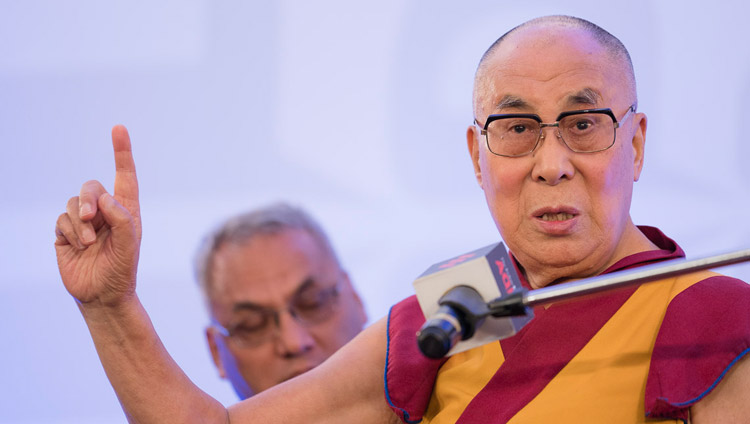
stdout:
<svg viewBox="0 0 750 424">
<path fill-rule="evenodd" d="M 242 399 L 319 365 L 367 320 L 323 229 L 287 204 L 222 223 L 195 266 L 211 355 Z"/>
</svg>

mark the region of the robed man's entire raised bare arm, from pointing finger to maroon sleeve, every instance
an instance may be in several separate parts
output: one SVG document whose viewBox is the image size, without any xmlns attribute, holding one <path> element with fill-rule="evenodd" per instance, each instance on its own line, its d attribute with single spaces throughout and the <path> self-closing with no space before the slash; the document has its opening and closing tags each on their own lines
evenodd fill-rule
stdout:
<svg viewBox="0 0 750 424">
<path fill-rule="evenodd" d="M 398 422 L 383 394 L 385 321 L 315 370 L 229 410 L 195 386 L 167 353 L 135 293 L 141 240 L 130 138 L 112 130 L 115 189 L 97 181 L 68 201 L 55 228 L 65 288 L 78 301 L 112 387 L 130 422 Z"/>
</svg>

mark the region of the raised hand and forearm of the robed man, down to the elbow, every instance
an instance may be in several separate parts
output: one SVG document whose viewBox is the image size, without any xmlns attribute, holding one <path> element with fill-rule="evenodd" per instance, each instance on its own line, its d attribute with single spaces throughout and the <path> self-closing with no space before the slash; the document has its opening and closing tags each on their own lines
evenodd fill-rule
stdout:
<svg viewBox="0 0 750 424">
<path fill-rule="evenodd" d="M 226 422 L 162 346 L 135 294 L 141 241 L 138 179 L 125 127 L 112 129 L 114 195 L 98 181 L 68 201 L 55 228 L 60 275 L 131 422 Z"/>
</svg>

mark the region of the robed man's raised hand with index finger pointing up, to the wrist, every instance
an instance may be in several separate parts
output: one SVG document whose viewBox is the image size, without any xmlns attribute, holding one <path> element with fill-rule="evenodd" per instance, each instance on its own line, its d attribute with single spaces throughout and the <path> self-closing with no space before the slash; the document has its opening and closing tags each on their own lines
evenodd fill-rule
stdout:
<svg viewBox="0 0 750 424">
<path fill-rule="evenodd" d="M 130 136 L 112 128 L 114 196 L 88 181 L 57 219 L 55 250 L 60 276 L 80 303 L 116 304 L 135 291 L 141 243 L 138 179 Z"/>
</svg>

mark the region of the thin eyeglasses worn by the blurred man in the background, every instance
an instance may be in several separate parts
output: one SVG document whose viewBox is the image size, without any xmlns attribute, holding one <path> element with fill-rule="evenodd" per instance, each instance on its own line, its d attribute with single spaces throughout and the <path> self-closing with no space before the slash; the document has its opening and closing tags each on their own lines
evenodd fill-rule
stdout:
<svg viewBox="0 0 750 424">
<path fill-rule="evenodd" d="M 286 310 L 304 327 L 313 327 L 329 319 L 338 304 L 340 280 L 327 288 L 311 286 L 297 293 Z M 279 312 L 254 304 L 240 305 L 232 323 L 224 327 L 213 320 L 211 326 L 241 347 L 260 346 L 276 337 L 281 327 Z"/>
</svg>

